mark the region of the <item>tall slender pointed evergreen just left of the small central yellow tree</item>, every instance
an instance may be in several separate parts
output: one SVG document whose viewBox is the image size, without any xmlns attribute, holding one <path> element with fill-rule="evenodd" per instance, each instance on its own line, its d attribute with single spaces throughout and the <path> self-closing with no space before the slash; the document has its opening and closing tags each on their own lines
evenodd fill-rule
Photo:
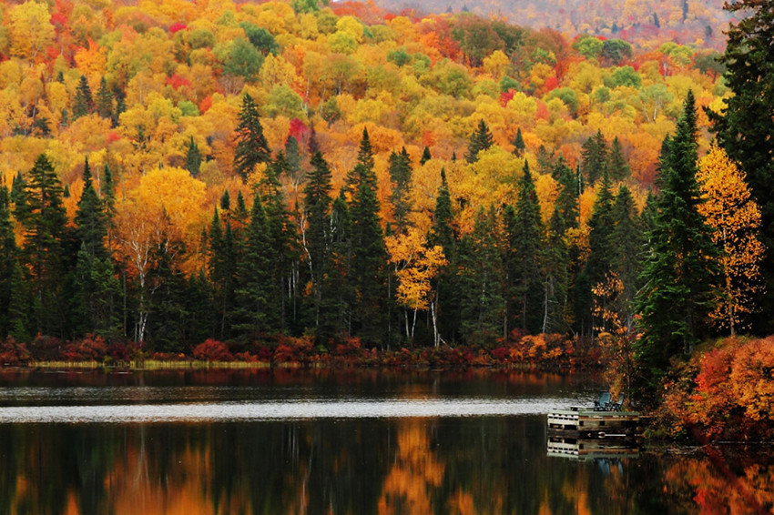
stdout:
<svg viewBox="0 0 774 515">
<path fill-rule="evenodd" d="M 376 174 L 368 131 L 363 129 L 358 164 L 355 166 L 354 193 L 351 202 L 352 261 L 351 273 L 357 288 L 358 303 L 355 320 L 360 326 L 361 338 L 370 343 L 381 343 L 384 326 L 384 247 L 382 226 L 379 221 L 379 199 L 376 196 Z"/>
</svg>

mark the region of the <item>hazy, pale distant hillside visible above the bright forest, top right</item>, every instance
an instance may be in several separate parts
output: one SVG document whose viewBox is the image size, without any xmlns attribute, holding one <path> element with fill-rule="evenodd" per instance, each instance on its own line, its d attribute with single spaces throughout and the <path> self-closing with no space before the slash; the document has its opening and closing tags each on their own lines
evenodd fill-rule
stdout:
<svg viewBox="0 0 774 515">
<path fill-rule="evenodd" d="M 551 27 L 566 36 L 605 35 L 645 49 L 666 41 L 725 47 L 731 17 L 724 0 L 375 0 L 392 12 L 471 12 L 504 18 L 516 25 Z"/>
</svg>

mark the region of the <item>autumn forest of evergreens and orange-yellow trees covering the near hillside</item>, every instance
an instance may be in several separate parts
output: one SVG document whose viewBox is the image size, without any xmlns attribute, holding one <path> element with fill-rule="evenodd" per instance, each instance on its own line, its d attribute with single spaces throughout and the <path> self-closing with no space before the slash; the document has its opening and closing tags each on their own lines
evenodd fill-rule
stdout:
<svg viewBox="0 0 774 515">
<path fill-rule="evenodd" d="M 3 360 L 584 351 L 652 387 L 767 334 L 745 9 L 720 54 L 371 3 L 6 3 Z"/>
</svg>

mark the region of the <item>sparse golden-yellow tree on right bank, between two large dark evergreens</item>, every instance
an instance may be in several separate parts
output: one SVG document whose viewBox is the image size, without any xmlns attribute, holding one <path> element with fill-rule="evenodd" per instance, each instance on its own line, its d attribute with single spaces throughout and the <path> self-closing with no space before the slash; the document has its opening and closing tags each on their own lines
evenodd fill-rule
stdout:
<svg viewBox="0 0 774 515">
<path fill-rule="evenodd" d="M 698 168 L 697 179 L 705 199 L 698 210 L 708 226 L 715 229 L 713 240 L 723 249 L 724 287 L 711 316 L 733 336 L 737 328 L 744 327 L 745 316 L 755 310 L 754 298 L 762 289 L 760 209 L 750 198 L 745 172 L 722 148 L 712 146 L 707 156 L 699 159 Z"/>
</svg>

